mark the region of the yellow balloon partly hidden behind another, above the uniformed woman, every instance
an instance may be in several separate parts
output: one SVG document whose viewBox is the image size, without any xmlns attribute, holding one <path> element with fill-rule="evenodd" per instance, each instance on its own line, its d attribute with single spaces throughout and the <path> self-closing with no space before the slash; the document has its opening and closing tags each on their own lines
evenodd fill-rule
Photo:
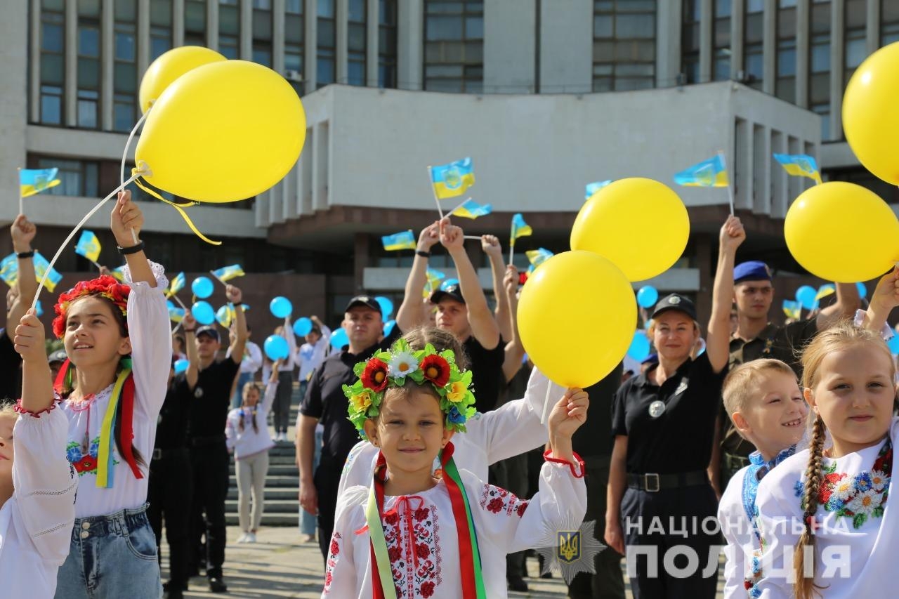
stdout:
<svg viewBox="0 0 899 599">
<path fill-rule="evenodd" d="M 671 268 L 689 237 L 690 217 L 678 194 L 664 183 L 633 177 L 606 185 L 583 204 L 571 248 L 609 258 L 635 282 Z"/>
</svg>

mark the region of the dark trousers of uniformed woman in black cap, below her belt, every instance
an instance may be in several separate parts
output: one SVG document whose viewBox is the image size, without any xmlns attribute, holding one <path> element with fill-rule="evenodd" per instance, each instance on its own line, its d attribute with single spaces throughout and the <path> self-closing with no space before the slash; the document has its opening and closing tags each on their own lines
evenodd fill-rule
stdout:
<svg viewBox="0 0 899 599">
<path fill-rule="evenodd" d="M 635 565 L 633 561 L 636 561 L 636 576 L 630 578 L 634 599 L 714 599 L 718 582 L 718 553 L 721 549 L 721 537 L 716 532 L 716 514 L 717 498 L 711 485 L 670 488 L 655 493 L 635 488 L 625 491 L 621 499 L 621 527 L 628 563 Z M 659 523 L 655 529 L 654 519 Z M 703 531 L 702 523 L 707 519 L 706 529 L 713 534 Z M 682 532 L 684 530 L 686 535 Z M 637 545 L 653 547 L 655 555 L 645 557 L 645 554 L 636 551 Z M 672 576 L 663 563 L 664 555 L 669 550 L 672 550 L 674 568 L 688 568 L 688 558 L 679 555 L 682 550 L 695 552 L 699 557 L 699 566 L 692 574 L 687 572 Z M 708 572 L 709 553 L 714 562 L 712 572 Z"/>
</svg>

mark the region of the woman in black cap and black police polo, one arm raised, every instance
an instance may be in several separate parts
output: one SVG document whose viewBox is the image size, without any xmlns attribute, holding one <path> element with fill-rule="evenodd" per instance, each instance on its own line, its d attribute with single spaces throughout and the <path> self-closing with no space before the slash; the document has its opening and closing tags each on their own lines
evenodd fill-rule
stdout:
<svg viewBox="0 0 899 599">
<path fill-rule="evenodd" d="M 706 352 L 690 359 L 699 339 L 693 302 L 663 298 L 648 332 L 659 363 L 625 381 L 612 404 L 605 540 L 630 554 L 635 599 L 716 595 L 717 497 L 707 469 L 727 366 L 734 255 L 745 238 L 740 219 L 729 217 L 721 228 Z"/>
</svg>

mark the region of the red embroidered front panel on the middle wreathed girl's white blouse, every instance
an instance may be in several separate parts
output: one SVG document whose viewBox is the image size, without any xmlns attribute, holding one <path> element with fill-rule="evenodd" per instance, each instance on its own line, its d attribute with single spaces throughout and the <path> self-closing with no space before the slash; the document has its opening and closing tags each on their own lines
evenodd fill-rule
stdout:
<svg viewBox="0 0 899 599">
<path fill-rule="evenodd" d="M 420 496 L 401 496 L 384 513 L 384 540 L 396 596 L 432 597 L 443 582 L 437 508 Z"/>
</svg>

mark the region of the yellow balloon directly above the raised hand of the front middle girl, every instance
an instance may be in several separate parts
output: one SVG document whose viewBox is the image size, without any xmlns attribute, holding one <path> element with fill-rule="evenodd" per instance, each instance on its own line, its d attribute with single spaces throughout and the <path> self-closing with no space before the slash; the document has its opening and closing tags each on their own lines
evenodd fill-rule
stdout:
<svg viewBox="0 0 899 599">
<path fill-rule="evenodd" d="M 589 387 L 628 351 L 636 329 L 634 291 L 601 255 L 556 254 L 521 288 L 518 329 L 525 351 L 549 379 Z"/>
</svg>

